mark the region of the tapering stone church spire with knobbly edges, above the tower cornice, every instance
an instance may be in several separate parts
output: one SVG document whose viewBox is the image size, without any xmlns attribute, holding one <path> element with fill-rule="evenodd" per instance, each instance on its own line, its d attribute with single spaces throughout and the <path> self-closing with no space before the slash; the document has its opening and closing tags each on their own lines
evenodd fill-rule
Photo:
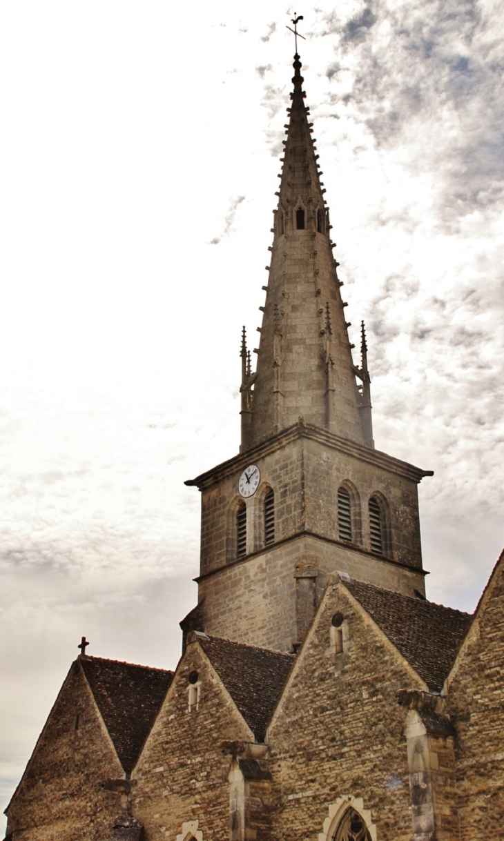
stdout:
<svg viewBox="0 0 504 841">
<path fill-rule="evenodd" d="M 307 424 L 372 447 L 371 404 L 368 424 L 364 394 L 355 380 L 360 373 L 348 340 L 347 304 L 332 256 L 326 190 L 297 52 L 293 66 L 257 371 L 241 383 L 241 450 L 292 426 L 300 416 Z"/>
</svg>

